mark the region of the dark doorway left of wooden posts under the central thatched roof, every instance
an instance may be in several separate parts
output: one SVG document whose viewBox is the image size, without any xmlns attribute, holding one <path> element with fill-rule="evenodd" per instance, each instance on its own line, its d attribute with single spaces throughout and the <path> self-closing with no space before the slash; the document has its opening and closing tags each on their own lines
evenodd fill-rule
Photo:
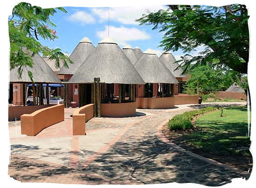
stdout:
<svg viewBox="0 0 256 188">
<path fill-rule="evenodd" d="M 92 103 L 92 84 L 79 84 L 79 107 Z"/>
</svg>

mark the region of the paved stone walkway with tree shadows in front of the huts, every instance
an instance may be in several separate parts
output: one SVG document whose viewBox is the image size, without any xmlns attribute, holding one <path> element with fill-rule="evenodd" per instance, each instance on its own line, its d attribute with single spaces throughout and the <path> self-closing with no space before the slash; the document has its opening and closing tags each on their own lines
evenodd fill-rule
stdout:
<svg viewBox="0 0 256 188">
<path fill-rule="evenodd" d="M 244 102 L 219 103 L 245 105 Z M 87 135 L 72 136 L 72 109 L 65 121 L 36 136 L 20 134 L 9 122 L 9 175 L 24 182 L 74 184 L 230 182 L 249 173 L 188 152 L 162 137 L 162 126 L 176 114 L 206 105 L 177 105 L 173 109 L 137 109 L 134 117 L 93 118 Z"/>
</svg>

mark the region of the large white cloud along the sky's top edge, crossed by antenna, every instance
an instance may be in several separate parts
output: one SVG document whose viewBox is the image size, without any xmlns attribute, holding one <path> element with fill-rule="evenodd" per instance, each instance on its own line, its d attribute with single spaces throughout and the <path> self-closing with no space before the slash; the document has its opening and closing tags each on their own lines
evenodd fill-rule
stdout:
<svg viewBox="0 0 256 188">
<path fill-rule="evenodd" d="M 109 20 L 115 20 L 122 24 L 135 24 L 135 20 L 141 18 L 146 11 L 154 12 L 160 9 L 167 9 L 167 7 L 160 6 L 136 6 L 136 7 L 113 7 L 109 9 Z M 99 16 L 100 21 L 108 20 L 108 8 L 92 8 L 92 12 Z"/>
</svg>

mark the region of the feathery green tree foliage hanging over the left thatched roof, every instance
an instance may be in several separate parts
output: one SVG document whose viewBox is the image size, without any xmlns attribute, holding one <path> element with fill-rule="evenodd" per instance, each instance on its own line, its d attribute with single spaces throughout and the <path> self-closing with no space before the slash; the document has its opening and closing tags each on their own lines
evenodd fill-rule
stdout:
<svg viewBox="0 0 256 188">
<path fill-rule="evenodd" d="M 31 57 L 36 53 L 55 60 L 55 67 L 60 67 L 60 60 L 63 60 L 65 67 L 68 67 L 68 63 L 73 63 L 61 52 L 60 48 L 50 49 L 39 42 L 40 39 L 54 40 L 58 38 L 57 32 L 53 29 L 56 26 L 49 18 L 57 13 L 57 10 L 67 13 L 63 7 L 43 9 L 25 2 L 21 2 L 13 8 L 12 16 L 8 19 L 10 69 L 19 67 L 20 76 L 22 76 L 23 67 L 33 67 Z M 33 73 L 28 72 L 28 75 L 33 81 Z"/>
</svg>

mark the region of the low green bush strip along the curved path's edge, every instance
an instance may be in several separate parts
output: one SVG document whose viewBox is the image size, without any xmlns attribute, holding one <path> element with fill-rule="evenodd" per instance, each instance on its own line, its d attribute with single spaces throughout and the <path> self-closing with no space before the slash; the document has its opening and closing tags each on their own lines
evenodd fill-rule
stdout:
<svg viewBox="0 0 256 188">
<path fill-rule="evenodd" d="M 216 109 L 217 107 L 205 107 L 200 110 L 193 110 L 189 112 L 185 112 L 183 114 L 175 115 L 169 122 L 168 122 L 168 128 L 170 130 L 178 130 L 183 128 L 192 128 L 193 125 L 191 123 L 191 120 L 196 116 L 200 114 L 204 114 L 205 112 L 212 111 Z"/>
</svg>

